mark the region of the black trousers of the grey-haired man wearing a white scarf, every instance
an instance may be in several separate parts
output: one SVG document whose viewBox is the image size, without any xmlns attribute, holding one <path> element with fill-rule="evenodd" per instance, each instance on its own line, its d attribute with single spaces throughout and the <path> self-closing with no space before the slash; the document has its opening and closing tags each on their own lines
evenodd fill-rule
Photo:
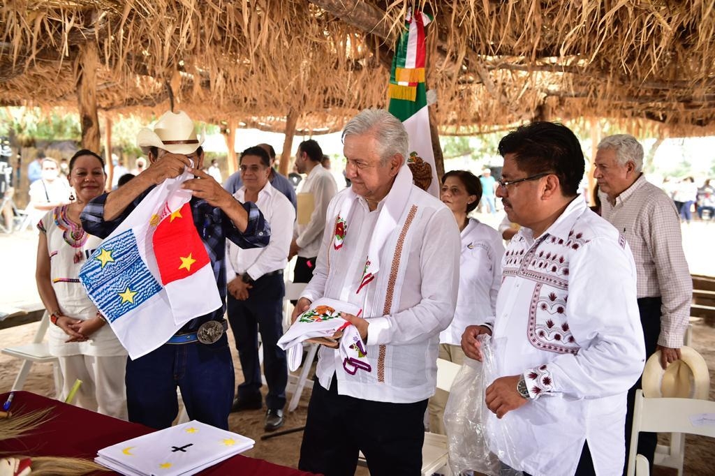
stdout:
<svg viewBox="0 0 715 476">
<path fill-rule="evenodd" d="M 362 450 L 370 475 L 418 476 L 426 409 L 427 400 L 388 403 L 337 395 L 335 376 L 330 390 L 316 381 L 298 468 L 325 476 L 354 475 Z"/>
</svg>

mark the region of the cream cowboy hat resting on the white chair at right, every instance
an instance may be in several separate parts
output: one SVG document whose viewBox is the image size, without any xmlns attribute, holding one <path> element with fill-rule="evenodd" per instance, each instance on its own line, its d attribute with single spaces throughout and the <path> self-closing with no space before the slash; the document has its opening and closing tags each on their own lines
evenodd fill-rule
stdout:
<svg viewBox="0 0 715 476">
<path fill-rule="evenodd" d="M 646 398 L 675 397 L 708 400 L 710 375 L 705 359 L 692 347 L 680 348 L 681 359 L 661 367 L 661 351 L 651 355 L 643 370 Z"/>
</svg>

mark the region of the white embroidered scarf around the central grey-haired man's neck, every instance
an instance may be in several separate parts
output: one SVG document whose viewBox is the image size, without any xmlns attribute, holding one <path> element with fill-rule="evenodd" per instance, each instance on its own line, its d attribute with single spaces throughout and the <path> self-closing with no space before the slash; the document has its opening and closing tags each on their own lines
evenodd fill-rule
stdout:
<svg viewBox="0 0 715 476">
<path fill-rule="evenodd" d="M 407 207 L 408 197 L 412 189 L 412 172 L 409 167 L 405 166 L 400 169 L 393 188 L 390 189 L 388 196 L 385 197 L 385 204 L 380 210 L 378 222 L 375 224 L 373 237 L 370 239 L 370 247 L 368 247 L 368 256 L 365 258 L 365 269 L 363 269 L 363 279 L 360 286 L 355 292 L 360 292 L 366 284 L 375 279 L 375 274 L 380 270 L 380 251 L 385 246 L 388 238 L 395 232 L 400 217 Z M 337 251 L 342 247 L 342 242 L 345 239 L 345 234 L 350 227 L 350 211 L 357 202 L 358 195 L 349 189 L 348 197 L 342 202 L 340 210 L 335 217 L 335 232 L 333 239 L 333 247 Z"/>
</svg>

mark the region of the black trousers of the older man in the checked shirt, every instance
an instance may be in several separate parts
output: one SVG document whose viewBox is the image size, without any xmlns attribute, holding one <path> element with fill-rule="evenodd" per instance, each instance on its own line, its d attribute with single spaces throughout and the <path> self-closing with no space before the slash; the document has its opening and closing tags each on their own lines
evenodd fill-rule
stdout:
<svg viewBox="0 0 715 476">
<path fill-rule="evenodd" d="M 661 298 L 641 297 L 638 299 L 638 312 L 641 314 L 641 325 L 646 341 L 646 359 L 656 352 L 658 347 L 658 337 L 661 334 Z M 626 408 L 626 464 L 623 467 L 623 474 L 626 474 L 628 467 L 628 451 L 631 448 L 631 430 L 633 428 L 633 407 L 636 405 L 636 390 L 641 388 L 641 379 L 636 385 L 628 390 L 628 403 Z M 658 445 L 658 434 L 641 432 L 638 435 L 638 454 L 644 455 L 649 462 L 651 472 L 653 471 L 653 458 Z"/>
</svg>

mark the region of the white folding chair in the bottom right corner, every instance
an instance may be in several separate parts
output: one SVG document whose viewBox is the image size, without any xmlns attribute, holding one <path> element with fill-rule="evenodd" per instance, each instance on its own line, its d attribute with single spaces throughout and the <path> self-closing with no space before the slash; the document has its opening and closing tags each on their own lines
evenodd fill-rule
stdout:
<svg viewBox="0 0 715 476">
<path fill-rule="evenodd" d="M 646 398 L 636 390 L 627 476 L 649 474 L 648 462 L 636 457 L 638 432 L 675 432 L 715 437 L 715 402 L 694 398 Z"/>
</svg>

